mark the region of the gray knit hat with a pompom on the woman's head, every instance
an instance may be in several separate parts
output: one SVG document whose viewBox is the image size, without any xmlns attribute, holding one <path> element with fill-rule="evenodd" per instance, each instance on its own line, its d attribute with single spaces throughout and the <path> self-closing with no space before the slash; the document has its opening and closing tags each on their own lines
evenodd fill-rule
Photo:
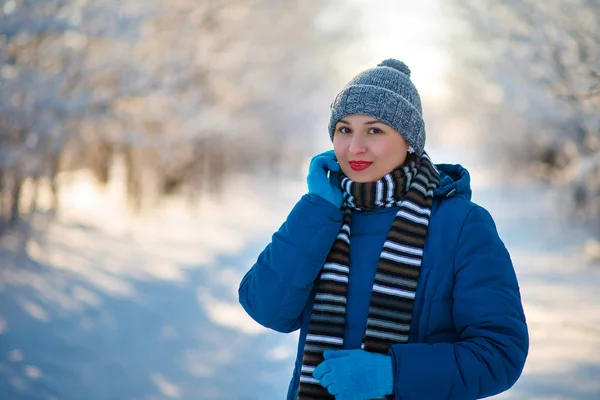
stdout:
<svg viewBox="0 0 600 400">
<path fill-rule="evenodd" d="M 377 118 L 402 134 L 417 155 L 425 148 L 425 123 L 419 92 L 402 61 L 387 59 L 356 75 L 331 104 L 329 136 L 335 124 L 351 114 Z"/>
</svg>

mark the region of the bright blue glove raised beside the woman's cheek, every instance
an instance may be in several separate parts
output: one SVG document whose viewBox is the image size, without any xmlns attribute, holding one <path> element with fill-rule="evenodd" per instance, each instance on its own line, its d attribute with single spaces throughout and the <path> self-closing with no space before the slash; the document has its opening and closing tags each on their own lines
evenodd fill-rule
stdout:
<svg viewBox="0 0 600 400">
<path fill-rule="evenodd" d="M 329 172 L 329 176 L 328 176 Z M 342 206 L 342 189 L 339 183 L 340 164 L 333 150 L 313 157 L 308 167 L 308 193 L 327 200 L 336 207 Z"/>
</svg>

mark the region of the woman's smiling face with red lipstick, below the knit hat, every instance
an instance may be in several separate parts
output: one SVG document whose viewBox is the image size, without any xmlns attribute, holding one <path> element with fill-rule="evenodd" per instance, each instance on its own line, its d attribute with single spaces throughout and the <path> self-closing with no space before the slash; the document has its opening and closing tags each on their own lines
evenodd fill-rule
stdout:
<svg viewBox="0 0 600 400">
<path fill-rule="evenodd" d="M 354 182 L 374 182 L 404 164 L 408 146 L 397 130 L 369 115 L 348 115 L 335 125 L 333 150 Z"/>
</svg>

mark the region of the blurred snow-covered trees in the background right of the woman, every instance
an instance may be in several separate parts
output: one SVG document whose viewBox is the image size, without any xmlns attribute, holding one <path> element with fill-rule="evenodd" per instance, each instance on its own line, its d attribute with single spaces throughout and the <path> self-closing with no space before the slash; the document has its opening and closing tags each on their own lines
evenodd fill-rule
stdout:
<svg viewBox="0 0 600 400">
<path fill-rule="evenodd" d="M 600 1 L 453 5 L 464 21 L 452 46 L 454 103 L 477 115 L 476 140 L 511 167 L 558 183 L 599 229 Z"/>
</svg>

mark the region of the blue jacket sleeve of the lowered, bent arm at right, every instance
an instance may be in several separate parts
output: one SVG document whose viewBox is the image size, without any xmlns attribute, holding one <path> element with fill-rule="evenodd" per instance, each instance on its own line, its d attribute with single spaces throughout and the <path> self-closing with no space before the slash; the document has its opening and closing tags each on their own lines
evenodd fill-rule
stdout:
<svg viewBox="0 0 600 400">
<path fill-rule="evenodd" d="M 392 345 L 394 397 L 478 399 L 519 378 L 529 336 L 517 277 L 490 214 L 475 206 L 454 259 L 456 343 Z"/>
</svg>

